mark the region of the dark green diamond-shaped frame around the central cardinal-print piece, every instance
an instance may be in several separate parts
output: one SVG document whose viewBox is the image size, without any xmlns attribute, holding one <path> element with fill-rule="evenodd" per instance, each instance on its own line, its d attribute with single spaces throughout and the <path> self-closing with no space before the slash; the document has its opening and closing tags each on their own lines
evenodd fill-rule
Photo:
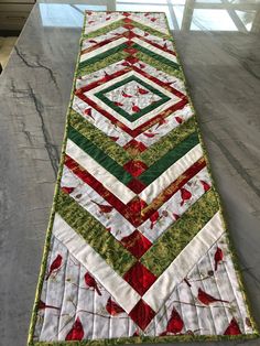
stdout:
<svg viewBox="0 0 260 346">
<path fill-rule="evenodd" d="M 152 91 L 153 94 L 158 95 L 159 97 L 161 97 L 160 100 L 151 104 L 150 106 L 141 109 L 139 112 L 130 115 L 128 113 L 126 110 L 123 110 L 122 108 L 115 106 L 115 104 L 106 97 L 105 94 L 119 88 L 122 85 L 126 85 L 129 82 L 136 80 L 137 83 L 141 84 L 142 86 L 144 86 L 147 89 L 149 89 L 150 91 Z M 159 91 L 158 89 L 153 88 L 152 86 L 148 85 L 147 83 L 144 83 L 143 80 L 137 78 L 136 76 L 130 76 L 126 79 L 122 79 L 113 85 L 111 85 L 110 87 L 95 94 L 95 96 L 97 96 L 101 101 L 104 101 L 106 105 L 108 105 L 109 107 L 111 107 L 115 111 L 117 111 L 119 115 L 121 115 L 122 117 L 124 117 L 128 121 L 133 122 L 137 119 L 140 119 L 142 116 L 144 116 L 145 113 L 148 113 L 149 111 L 152 111 L 153 109 L 156 109 L 159 106 L 163 105 L 164 102 L 166 102 L 167 100 L 170 100 L 170 97 L 167 97 L 166 95 L 162 94 L 161 91 Z"/>
</svg>

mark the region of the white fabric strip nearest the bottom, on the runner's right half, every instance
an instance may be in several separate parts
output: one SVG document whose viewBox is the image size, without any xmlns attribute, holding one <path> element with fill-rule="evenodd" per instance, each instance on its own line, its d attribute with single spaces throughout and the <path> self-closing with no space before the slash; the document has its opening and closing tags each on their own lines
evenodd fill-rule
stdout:
<svg viewBox="0 0 260 346">
<path fill-rule="evenodd" d="M 220 213 L 217 212 L 153 283 L 142 299 L 158 312 L 176 284 L 186 277 L 224 231 Z"/>
</svg>

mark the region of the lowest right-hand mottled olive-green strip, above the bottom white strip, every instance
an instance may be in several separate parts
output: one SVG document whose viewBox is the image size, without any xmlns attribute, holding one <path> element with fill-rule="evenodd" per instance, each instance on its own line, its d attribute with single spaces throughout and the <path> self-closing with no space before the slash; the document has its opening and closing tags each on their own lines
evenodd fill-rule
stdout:
<svg viewBox="0 0 260 346">
<path fill-rule="evenodd" d="M 161 275 L 218 209 L 216 195 L 209 190 L 144 253 L 142 264 L 155 275 Z"/>
</svg>

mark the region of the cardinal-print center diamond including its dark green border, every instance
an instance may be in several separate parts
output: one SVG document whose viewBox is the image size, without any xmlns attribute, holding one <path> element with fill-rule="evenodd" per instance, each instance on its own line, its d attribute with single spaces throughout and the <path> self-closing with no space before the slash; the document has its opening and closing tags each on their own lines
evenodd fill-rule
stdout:
<svg viewBox="0 0 260 346">
<path fill-rule="evenodd" d="M 170 97 L 137 76 L 126 77 L 95 96 L 130 122 L 170 100 Z"/>
</svg>

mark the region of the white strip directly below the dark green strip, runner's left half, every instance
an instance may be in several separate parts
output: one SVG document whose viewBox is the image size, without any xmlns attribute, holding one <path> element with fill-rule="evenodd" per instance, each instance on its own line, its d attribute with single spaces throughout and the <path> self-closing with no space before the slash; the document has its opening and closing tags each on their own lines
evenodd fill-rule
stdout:
<svg viewBox="0 0 260 346">
<path fill-rule="evenodd" d="M 130 202 L 136 196 L 130 188 L 123 185 L 116 176 L 105 170 L 69 139 L 67 140 L 66 153 L 91 175 L 94 175 L 96 180 L 98 180 L 107 190 L 109 190 L 124 204 Z"/>
</svg>

